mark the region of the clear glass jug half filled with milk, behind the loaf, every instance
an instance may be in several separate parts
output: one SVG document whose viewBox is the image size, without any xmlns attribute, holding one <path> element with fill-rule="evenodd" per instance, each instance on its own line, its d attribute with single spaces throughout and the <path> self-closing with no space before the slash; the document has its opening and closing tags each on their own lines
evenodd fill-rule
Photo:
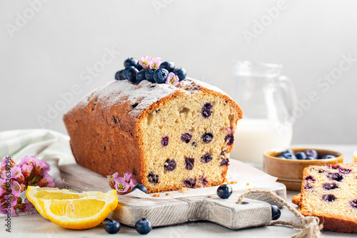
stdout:
<svg viewBox="0 0 357 238">
<path fill-rule="evenodd" d="M 293 83 L 281 76 L 283 66 L 250 61 L 233 62 L 232 96 L 243 110 L 238 120 L 231 158 L 253 165 L 263 162 L 263 152 L 286 149 L 293 136 L 291 112 L 297 99 Z"/>
</svg>

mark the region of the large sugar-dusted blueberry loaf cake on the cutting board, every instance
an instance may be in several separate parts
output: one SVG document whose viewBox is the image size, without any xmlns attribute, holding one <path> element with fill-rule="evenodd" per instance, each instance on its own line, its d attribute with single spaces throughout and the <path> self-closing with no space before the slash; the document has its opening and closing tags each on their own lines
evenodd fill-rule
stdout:
<svg viewBox="0 0 357 238">
<path fill-rule="evenodd" d="M 218 88 L 111 81 L 64 115 L 76 162 L 101 175 L 131 172 L 149 192 L 226 180 L 241 108 Z"/>
</svg>

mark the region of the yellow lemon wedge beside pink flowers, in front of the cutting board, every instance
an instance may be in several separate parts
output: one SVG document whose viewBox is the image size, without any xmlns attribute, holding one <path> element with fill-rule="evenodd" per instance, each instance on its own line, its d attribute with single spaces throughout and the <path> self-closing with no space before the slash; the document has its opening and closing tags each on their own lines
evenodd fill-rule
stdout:
<svg viewBox="0 0 357 238">
<path fill-rule="evenodd" d="M 71 190 L 42 190 L 34 187 L 30 188 L 27 194 L 31 197 L 28 197 L 29 201 L 37 206 L 40 214 L 54 224 L 69 229 L 96 227 L 118 205 L 116 190 L 106 193 L 78 193 Z"/>
</svg>

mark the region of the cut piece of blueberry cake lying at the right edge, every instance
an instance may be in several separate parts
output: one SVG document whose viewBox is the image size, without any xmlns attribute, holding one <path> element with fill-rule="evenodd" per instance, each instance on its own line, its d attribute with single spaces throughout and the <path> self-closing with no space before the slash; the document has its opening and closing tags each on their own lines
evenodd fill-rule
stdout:
<svg viewBox="0 0 357 238">
<path fill-rule="evenodd" d="M 357 232 L 357 163 L 310 166 L 293 203 L 334 232 Z"/>
</svg>

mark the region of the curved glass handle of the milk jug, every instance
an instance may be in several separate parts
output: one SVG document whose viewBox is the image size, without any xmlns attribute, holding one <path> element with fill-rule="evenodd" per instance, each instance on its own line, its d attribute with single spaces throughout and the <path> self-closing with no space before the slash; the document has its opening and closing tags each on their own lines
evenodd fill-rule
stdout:
<svg viewBox="0 0 357 238">
<path fill-rule="evenodd" d="M 286 108 L 288 110 L 288 120 L 285 123 L 289 122 L 291 125 L 295 123 L 296 118 L 293 116 L 293 110 L 298 105 L 298 97 L 296 95 L 296 90 L 293 86 L 293 81 L 286 76 L 279 76 L 279 86 L 283 91 L 283 97 L 285 98 Z"/>
</svg>

